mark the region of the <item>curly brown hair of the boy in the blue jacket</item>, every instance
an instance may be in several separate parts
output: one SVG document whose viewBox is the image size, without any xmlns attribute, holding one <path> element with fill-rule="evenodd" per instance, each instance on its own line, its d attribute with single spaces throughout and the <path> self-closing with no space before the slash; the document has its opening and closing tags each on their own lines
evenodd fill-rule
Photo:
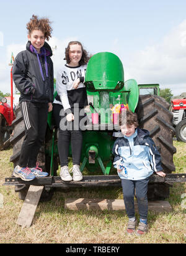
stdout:
<svg viewBox="0 0 186 256">
<path fill-rule="evenodd" d="M 138 116 L 136 113 L 133 113 L 131 110 L 126 109 L 125 111 L 122 111 L 119 115 L 119 125 L 122 126 L 124 124 L 127 125 L 135 125 L 138 127 Z"/>
</svg>

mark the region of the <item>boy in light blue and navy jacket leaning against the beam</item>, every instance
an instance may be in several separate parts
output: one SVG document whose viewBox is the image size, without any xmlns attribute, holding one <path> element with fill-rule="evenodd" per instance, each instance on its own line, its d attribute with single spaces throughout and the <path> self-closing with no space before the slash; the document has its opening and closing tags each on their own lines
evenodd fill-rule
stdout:
<svg viewBox="0 0 186 256">
<path fill-rule="evenodd" d="M 149 178 L 154 171 L 162 177 L 166 174 L 162 172 L 161 156 L 154 141 L 149 137 L 149 132 L 138 128 L 136 113 L 128 109 L 122 111 L 119 125 L 123 136 L 115 141 L 112 153 L 115 156 L 113 166 L 117 168 L 118 176 L 122 181 L 123 199 L 129 218 L 126 233 L 135 234 L 137 222 L 134 195 L 136 189 L 139 211 L 139 226 L 136 234 L 143 235 L 148 231 Z"/>
</svg>

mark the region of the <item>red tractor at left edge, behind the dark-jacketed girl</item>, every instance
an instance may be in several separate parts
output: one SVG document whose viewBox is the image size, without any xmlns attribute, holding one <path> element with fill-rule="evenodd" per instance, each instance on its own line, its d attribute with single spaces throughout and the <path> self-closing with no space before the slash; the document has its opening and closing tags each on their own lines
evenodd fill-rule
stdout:
<svg viewBox="0 0 186 256">
<path fill-rule="evenodd" d="M 12 85 L 11 70 L 11 85 Z M 12 133 L 12 121 L 15 119 L 13 110 L 13 86 L 11 86 L 11 106 L 7 104 L 6 98 L 0 100 L 0 150 L 10 145 L 9 138 Z"/>
</svg>

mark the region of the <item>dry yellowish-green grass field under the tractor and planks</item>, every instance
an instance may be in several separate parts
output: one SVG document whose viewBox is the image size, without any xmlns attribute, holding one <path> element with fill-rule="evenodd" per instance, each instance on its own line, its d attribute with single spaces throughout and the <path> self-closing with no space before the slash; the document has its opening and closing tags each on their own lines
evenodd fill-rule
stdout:
<svg viewBox="0 0 186 256">
<path fill-rule="evenodd" d="M 186 173 L 186 143 L 174 141 L 176 173 Z M 169 244 L 186 242 L 186 210 L 180 206 L 185 183 L 175 183 L 170 188 L 169 201 L 172 212 L 154 214 L 149 211 L 149 232 L 143 237 L 125 234 L 128 218 L 123 211 L 70 211 L 64 209 L 64 199 L 86 197 L 122 199 L 122 189 L 73 189 L 55 191 L 49 202 L 40 202 L 30 228 L 16 224 L 22 207 L 14 186 L 2 186 L 4 178 L 11 176 L 9 163 L 12 149 L 0 151 L 0 193 L 4 204 L 0 207 L 0 243 L 81 243 L 117 244 L 152 243 Z M 1 204 L 0 204 L 1 206 Z M 137 219 L 139 216 L 137 215 Z"/>
</svg>

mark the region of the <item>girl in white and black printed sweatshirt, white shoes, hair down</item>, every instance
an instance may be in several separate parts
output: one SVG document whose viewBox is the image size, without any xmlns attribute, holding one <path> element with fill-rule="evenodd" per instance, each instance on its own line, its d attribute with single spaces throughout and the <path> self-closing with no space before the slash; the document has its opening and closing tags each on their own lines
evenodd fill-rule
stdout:
<svg viewBox="0 0 186 256">
<path fill-rule="evenodd" d="M 66 64 L 56 77 L 58 92 L 53 104 L 53 115 L 59 129 L 58 152 L 60 176 L 63 181 L 81 181 L 79 169 L 82 148 L 82 131 L 79 123 L 84 118 L 84 106 L 88 105 L 84 77 L 89 55 L 81 42 L 69 42 L 65 49 Z M 73 157 L 73 178 L 68 170 L 69 143 Z"/>
</svg>

